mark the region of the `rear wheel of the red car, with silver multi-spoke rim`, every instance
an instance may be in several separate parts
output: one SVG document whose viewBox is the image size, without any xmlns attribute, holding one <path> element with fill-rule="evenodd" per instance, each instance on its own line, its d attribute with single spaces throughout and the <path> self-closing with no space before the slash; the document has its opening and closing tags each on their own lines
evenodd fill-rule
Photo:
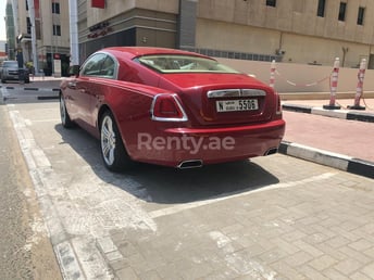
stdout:
<svg viewBox="0 0 374 280">
<path fill-rule="evenodd" d="M 132 161 L 123 144 L 122 137 L 111 112 L 103 113 L 100 122 L 100 148 L 105 167 L 111 171 L 128 168 Z"/>
</svg>

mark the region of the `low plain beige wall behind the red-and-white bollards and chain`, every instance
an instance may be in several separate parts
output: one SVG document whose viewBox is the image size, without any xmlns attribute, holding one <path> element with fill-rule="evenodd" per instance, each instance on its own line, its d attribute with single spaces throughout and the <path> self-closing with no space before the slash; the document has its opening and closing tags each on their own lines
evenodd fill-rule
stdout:
<svg viewBox="0 0 374 280">
<path fill-rule="evenodd" d="M 244 60 L 217 59 L 223 64 L 226 64 L 237 71 L 255 75 L 258 79 L 269 85 L 270 79 L 270 62 L 255 62 Z M 296 92 L 329 92 L 329 74 L 333 71 L 334 60 L 332 66 L 314 66 L 296 63 L 277 63 L 276 68 L 280 76 L 275 76 L 275 89 L 279 93 L 296 93 Z M 358 82 L 358 68 L 340 67 L 338 92 L 356 92 Z M 326 78 L 324 81 L 306 87 L 304 85 L 319 81 Z M 286 80 L 290 80 L 300 86 L 291 86 Z M 374 92 L 374 71 L 366 69 L 364 78 L 364 91 Z M 350 94 L 351 96 L 351 94 Z"/>
</svg>

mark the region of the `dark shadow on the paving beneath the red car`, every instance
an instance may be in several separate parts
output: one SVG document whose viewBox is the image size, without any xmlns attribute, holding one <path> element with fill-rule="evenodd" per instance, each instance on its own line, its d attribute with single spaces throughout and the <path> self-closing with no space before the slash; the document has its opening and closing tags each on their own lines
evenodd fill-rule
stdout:
<svg viewBox="0 0 374 280">
<path fill-rule="evenodd" d="M 97 139 L 78 127 L 67 130 L 57 125 L 55 130 L 62 136 L 63 143 L 70 144 L 102 181 L 148 202 L 188 203 L 279 182 L 274 175 L 249 160 L 194 169 L 134 163 L 123 173 L 111 173 L 102 163 Z"/>
</svg>

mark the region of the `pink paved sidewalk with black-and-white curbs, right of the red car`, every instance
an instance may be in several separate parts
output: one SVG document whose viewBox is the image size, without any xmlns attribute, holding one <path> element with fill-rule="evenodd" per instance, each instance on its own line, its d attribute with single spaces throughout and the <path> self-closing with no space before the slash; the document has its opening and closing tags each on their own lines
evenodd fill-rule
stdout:
<svg viewBox="0 0 374 280">
<path fill-rule="evenodd" d="M 365 111 L 347 110 L 352 102 L 337 100 L 340 110 L 324 110 L 328 101 L 285 101 L 280 152 L 374 178 L 374 99 L 361 102 Z"/>
</svg>

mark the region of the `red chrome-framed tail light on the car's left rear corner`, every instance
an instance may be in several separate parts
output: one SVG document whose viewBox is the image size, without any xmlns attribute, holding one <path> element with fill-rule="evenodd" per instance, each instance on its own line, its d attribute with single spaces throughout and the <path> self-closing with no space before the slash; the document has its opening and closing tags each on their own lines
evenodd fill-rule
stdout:
<svg viewBox="0 0 374 280">
<path fill-rule="evenodd" d="M 153 120 L 186 122 L 187 115 L 176 94 L 162 93 L 154 97 L 151 106 Z"/>
</svg>

